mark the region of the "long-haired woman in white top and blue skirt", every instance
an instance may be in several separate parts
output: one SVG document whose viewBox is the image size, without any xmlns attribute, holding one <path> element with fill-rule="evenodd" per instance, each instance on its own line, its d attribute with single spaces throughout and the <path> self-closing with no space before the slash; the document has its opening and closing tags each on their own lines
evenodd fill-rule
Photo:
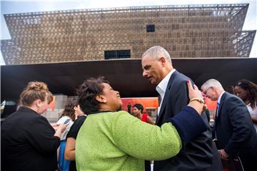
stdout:
<svg viewBox="0 0 257 171">
<path fill-rule="evenodd" d="M 76 114 L 75 114 L 75 108 L 76 107 L 76 99 L 71 99 L 64 107 L 64 112 L 61 114 L 59 120 L 57 123 L 61 124 L 64 122 L 68 122 L 69 125 L 67 126 L 64 133 L 61 133 L 61 144 L 59 148 L 59 155 L 58 155 L 58 164 L 59 164 L 59 171 L 68 171 L 70 160 L 66 160 L 64 158 L 64 150 L 66 147 L 66 135 L 69 133 L 69 130 L 71 128 L 71 125 L 73 125 Z"/>
</svg>

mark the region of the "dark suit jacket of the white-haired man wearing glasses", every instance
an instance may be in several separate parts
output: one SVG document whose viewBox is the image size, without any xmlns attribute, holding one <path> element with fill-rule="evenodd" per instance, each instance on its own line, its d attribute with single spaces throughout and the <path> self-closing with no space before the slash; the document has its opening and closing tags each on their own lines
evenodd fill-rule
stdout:
<svg viewBox="0 0 257 171">
<path fill-rule="evenodd" d="M 225 92 L 221 96 L 215 130 L 218 149 L 224 149 L 231 157 L 241 157 L 245 170 L 250 165 L 256 168 L 256 130 L 245 103 L 236 95 Z M 255 170 L 253 167 L 250 170 Z"/>
</svg>

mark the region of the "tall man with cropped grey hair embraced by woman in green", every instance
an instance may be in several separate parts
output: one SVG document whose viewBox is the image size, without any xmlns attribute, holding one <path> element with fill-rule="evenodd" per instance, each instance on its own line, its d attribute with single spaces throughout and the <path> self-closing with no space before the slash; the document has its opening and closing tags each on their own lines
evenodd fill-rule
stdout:
<svg viewBox="0 0 257 171">
<path fill-rule="evenodd" d="M 186 81 L 190 78 L 173 68 L 171 57 L 161 46 L 153 46 L 143 53 L 141 64 L 143 76 L 157 85 L 156 90 L 161 96 L 156 119 L 156 125 L 161 126 L 188 103 Z M 208 125 L 206 115 L 201 117 Z M 206 132 L 189 142 L 176 157 L 154 161 L 153 170 L 221 170 L 221 160 L 211 138 L 211 128 L 208 126 Z"/>
</svg>

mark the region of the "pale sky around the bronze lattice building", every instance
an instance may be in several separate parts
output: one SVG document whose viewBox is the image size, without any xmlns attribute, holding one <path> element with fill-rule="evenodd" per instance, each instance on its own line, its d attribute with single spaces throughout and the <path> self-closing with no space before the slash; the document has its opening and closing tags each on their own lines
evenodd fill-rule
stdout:
<svg viewBox="0 0 257 171">
<path fill-rule="evenodd" d="M 9 31 L 4 21 L 3 14 L 15 14 L 24 12 L 37 11 L 57 11 L 67 9 L 97 9 L 110 8 L 121 6 L 158 6 L 158 5 L 187 5 L 187 4 L 249 4 L 248 12 L 246 14 L 246 21 L 243 25 L 243 30 L 257 30 L 257 3 L 256 0 L 243 1 L 225 1 L 225 0 L 74 0 L 74 1 L 59 1 L 59 0 L 45 0 L 45 1 L 1 1 L 1 39 L 10 39 Z M 257 36 L 257 35 L 256 35 Z M 257 58 L 257 42 L 256 38 L 253 42 L 250 57 Z M 0 53 L 0 65 L 4 65 L 4 60 Z"/>
</svg>

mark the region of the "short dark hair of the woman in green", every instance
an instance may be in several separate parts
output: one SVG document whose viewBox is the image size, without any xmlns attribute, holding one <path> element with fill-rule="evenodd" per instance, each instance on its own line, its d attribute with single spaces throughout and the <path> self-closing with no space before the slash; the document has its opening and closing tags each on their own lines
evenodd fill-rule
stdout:
<svg viewBox="0 0 257 171">
<path fill-rule="evenodd" d="M 99 101 L 96 100 L 96 95 L 103 93 L 103 83 L 109 83 L 104 81 L 103 76 L 89 78 L 77 89 L 79 106 L 84 113 L 99 111 Z"/>
</svg>

